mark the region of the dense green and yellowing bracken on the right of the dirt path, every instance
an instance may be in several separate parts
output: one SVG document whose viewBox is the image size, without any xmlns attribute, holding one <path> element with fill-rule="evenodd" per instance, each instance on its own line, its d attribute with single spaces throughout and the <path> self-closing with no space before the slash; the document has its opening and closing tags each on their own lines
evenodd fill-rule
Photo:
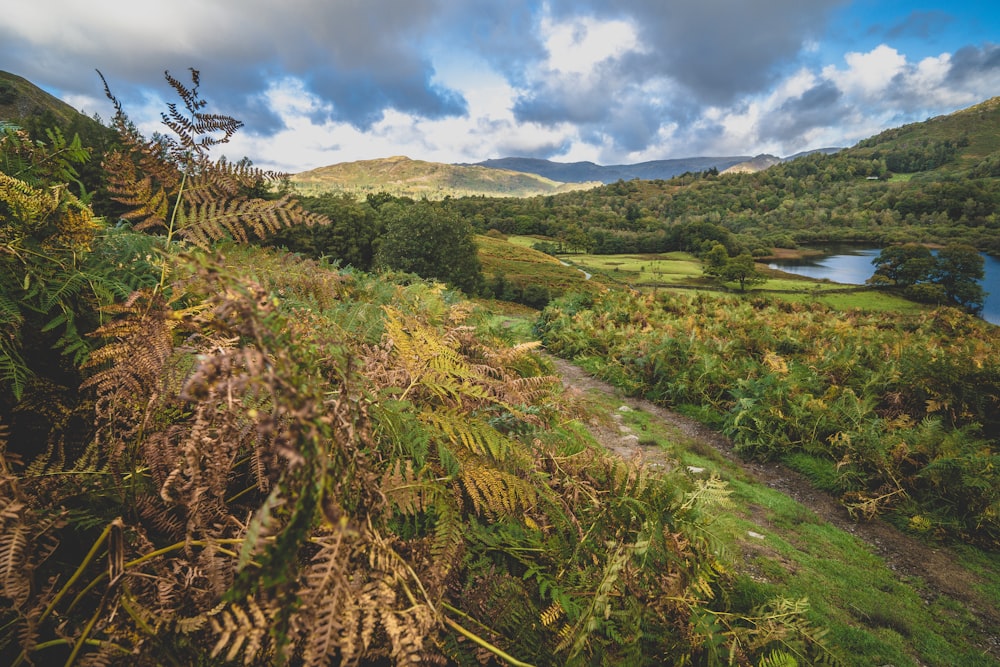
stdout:
<svg viewBox="0 0 1000 667">
<path fill-rule="evenodd" d="M 805 453 L 858 516 L 1000 544 L 996 327 L 941 309 L 609 292 L 542 314 L 546 348 L 596 357 L 624 389 L 687 406 L 758 459 Z"/>
</svg>

